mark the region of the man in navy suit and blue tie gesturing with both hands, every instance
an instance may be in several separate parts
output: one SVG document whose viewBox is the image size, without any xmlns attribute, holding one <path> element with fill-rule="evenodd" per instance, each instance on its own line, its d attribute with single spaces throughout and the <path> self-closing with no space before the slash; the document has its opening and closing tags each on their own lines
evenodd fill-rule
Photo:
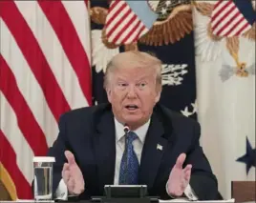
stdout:
<svg viewBox="0 0 256 203">
<path fill-rule="evenodd" d="M 110 104 L 60 118 L 49 151 L 56 160 L 53 192 L 88 199 L 102 195 L 104 185 L 143 184 L 149 195 L 163 199 L 216 199 L 218 184 L 199 143 L 199 123 L 158 104 L 160 60 L 139 51 L 118 53 L 104 82 Z"/>
</svg>

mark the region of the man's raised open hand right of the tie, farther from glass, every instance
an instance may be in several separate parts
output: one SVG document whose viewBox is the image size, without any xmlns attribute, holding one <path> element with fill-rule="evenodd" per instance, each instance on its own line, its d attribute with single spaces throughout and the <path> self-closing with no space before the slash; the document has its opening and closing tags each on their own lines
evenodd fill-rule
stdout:
<svg viewBox="0 0 256 203">
<path fill-rule="evenodd" d="M 185 158 L 185 153 L 181 153 L 179 155 L 176 164 L 174 165 L 169 175 L 167 190 L 171 196 L 181 196 L 189 183 L 192 165 L 189 164 L 184 169 L 182 169 Z"/>
</svg>

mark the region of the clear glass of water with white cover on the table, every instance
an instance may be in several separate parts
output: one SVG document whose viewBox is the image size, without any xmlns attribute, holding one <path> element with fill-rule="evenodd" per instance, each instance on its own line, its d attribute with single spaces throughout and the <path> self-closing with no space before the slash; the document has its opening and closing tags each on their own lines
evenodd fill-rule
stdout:
<svg viewBox="0 0 256 203">
<path fill-rule="evenodd" d="M 33 157 L 33 194 L 35 200 L 52 200 L 54 157 Z"/>
</svg>

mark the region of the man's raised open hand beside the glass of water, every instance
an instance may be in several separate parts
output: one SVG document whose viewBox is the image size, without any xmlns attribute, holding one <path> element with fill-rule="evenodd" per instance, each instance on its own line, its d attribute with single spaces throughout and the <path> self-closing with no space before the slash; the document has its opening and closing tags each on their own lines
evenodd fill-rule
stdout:
<svg viewBox="0 0 256 203">
<path fill-rule="evenodd" d="M 65 151 L 68 163 L 62 169 L 62 178 L 70 194 L 78 195 L 84 191 L 84 179 L 81 170 L 75 162 L 75 156 L 70 151 Z"/>
</svg>

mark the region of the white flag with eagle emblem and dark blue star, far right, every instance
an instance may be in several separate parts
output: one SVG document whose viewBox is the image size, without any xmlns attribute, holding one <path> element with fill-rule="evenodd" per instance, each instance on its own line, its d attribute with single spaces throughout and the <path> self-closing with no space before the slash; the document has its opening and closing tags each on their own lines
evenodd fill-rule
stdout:
<svg viewBox="0 0 256 203">
<path fill-rule="evenodd" d="M 255 180 L 256 5 L 250 0 L 194 5 L 201 143 L 228 199 L 231 181 Z"/>
</svg>

